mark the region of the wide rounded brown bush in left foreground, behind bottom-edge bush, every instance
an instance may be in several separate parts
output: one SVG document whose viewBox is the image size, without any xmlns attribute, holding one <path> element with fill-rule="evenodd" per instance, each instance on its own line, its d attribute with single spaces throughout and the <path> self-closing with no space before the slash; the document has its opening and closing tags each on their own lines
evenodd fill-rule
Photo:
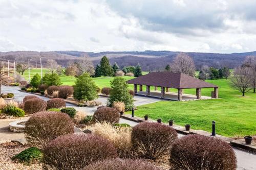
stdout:
<svg viewBox="0 0 256 170">
<path fill-rule="evenodd" d="M 95 161 L 117 157 L 107 139 L 93 134 L 70 134 L 52 140 L 43 150 L 43 162 L 52 169 L 81 169 Z"/>
</svg>

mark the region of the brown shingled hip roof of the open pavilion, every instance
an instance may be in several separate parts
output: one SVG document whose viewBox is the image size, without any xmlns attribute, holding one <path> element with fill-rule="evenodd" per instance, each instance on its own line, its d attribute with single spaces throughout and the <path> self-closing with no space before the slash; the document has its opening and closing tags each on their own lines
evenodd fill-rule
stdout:
<svg viewBox="0 0 256 170">
<path fill-rule="evenodd" d="M 151 72 L 147 75 L 128 80 L 126 83 L 181 89 L 218 87 L 179 72 Z"/>
</svg>

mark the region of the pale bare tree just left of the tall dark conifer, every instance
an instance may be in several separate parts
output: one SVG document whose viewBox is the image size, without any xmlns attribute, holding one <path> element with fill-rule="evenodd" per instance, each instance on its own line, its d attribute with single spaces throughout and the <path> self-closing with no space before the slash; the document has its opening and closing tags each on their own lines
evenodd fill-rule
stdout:
<svg viewBox="0 0 256 170">
<path fill-rule="evenodd" d="M 80 76 L 84 72 L 88 72 L 91 76 L 94 74 L 94 66 L 90 57 L 86 54 L 81 55 L 80 59 L 75 62 L 76 76 Z"/>
</svg>

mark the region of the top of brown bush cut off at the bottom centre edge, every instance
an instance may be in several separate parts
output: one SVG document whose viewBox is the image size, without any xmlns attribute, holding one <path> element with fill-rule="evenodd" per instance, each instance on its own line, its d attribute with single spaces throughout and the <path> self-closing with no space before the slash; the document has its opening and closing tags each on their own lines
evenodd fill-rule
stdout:
<svg viewBox="0 0 256 170">
<path fill-rule="evenodd" d="M 138 159 L 109 159 L 98 161 L 83 168 L 83 170 L 162 170 L 153 164 Z"/>
</svg>

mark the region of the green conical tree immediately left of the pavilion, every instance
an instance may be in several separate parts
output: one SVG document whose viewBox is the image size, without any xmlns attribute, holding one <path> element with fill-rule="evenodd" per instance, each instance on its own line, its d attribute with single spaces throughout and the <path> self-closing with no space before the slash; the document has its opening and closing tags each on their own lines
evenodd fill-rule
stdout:
<svg viewBox="0 0 256 170">
<path fill-rule="evenodd" d="M 110 82 L 112 90 L 110 91 L 110 98 L 108 105 L 112 107 L 114 102 L 123 102 L 125 110 L 132 110 L 134 107 L 133 96 L 129 93 L 129 86 L 122 77 L 115 77 Z"/>
</svg>

